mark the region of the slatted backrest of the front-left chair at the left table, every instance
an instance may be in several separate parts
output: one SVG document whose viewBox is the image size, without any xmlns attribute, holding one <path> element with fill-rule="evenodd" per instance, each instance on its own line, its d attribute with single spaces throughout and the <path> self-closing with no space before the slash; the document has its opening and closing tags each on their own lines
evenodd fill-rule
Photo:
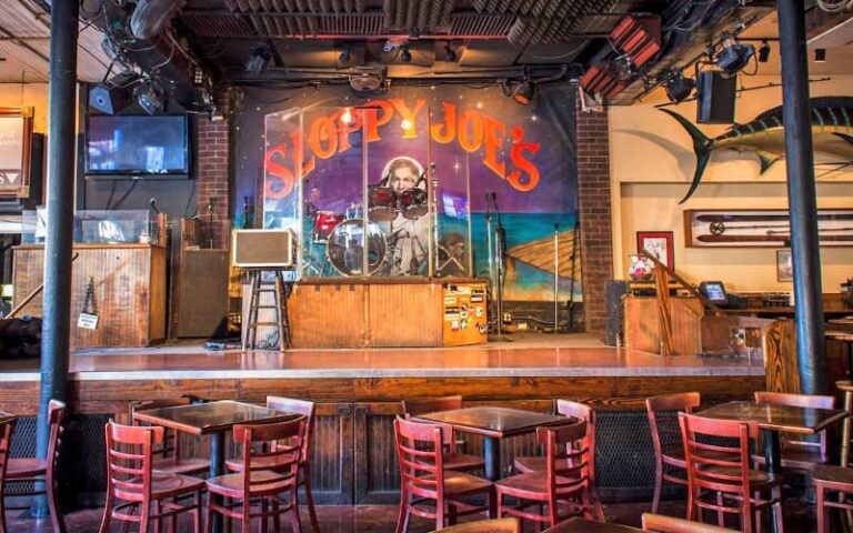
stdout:
<svg viewBox="0 0 853 533">
<path fill-rule="evenodd" d="M 163 442 L 163 428 L 107 422 L 107 490 L 151 495 L 152 454 Z M 120 496 L 123 499 L 123 496 Z"/>
</svg>

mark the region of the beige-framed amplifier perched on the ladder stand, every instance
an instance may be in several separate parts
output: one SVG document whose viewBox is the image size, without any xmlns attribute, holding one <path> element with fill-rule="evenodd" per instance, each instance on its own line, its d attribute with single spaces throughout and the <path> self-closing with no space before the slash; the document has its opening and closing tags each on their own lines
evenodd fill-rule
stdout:
<svg viewBox="0 0 853 533">
<path fill-rule="evenodd" d="M 293 269 L 297 238 L 293 230 L 235 230 L 231 233 L 234 266 Z"/>
</svg>

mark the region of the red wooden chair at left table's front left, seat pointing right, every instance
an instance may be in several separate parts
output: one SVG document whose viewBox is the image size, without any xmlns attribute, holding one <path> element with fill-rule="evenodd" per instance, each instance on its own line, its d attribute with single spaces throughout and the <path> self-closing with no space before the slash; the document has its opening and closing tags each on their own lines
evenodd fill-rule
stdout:
<svg viewBox="0 0 853 533">
<path fill-rule="evenodd" d="M 193 531 L 201 533 L 201 491 L 204 481 L 181 474 L 161 474 L 153 471 L 155 446 L 163 442 L 163 428 L 107 423 L 107 505 L 100 533 L 110 530 L 111 521 L 139 523 L 147 533 L 153 522 L 155 531 L 169 519 L 175 531 L 178 515 L 192 513 Z M 184 496 L 194 496 L 190 504 L 179 503 Z M 116 505 L 116 502 L 120 501 Z M 153 512 L 151 504 L 154 504 Z"/>
</svg>

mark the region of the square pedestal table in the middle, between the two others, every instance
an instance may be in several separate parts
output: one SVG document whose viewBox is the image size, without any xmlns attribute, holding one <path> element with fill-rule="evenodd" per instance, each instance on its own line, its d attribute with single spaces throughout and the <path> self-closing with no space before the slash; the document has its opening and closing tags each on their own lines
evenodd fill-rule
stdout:
<svg viewBox="0 0 853 533">
<path fill-rule="evenodd" d="M 485 477 L 490 481 L 498 481 L 501 477 L 501 439 L 532 433 L 540 425 L 571 422 L 571 419 L 565 416 L 489 406 L 421 414 L 417 419 L 441 422 L 462 433 L 482 435 L 483 451 L 485 452 Z"/>
</svg>

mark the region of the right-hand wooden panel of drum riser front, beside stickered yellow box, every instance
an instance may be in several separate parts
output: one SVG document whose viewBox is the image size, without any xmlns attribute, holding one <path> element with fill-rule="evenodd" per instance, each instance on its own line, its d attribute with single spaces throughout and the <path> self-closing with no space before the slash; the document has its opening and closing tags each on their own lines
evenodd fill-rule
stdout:
<svg viewBox="0 0 853 533">
<path fill-rule="evenodd" d="M 441 346 L 440 283 L 368 285 L 371 346 Z"/>
</svg>

